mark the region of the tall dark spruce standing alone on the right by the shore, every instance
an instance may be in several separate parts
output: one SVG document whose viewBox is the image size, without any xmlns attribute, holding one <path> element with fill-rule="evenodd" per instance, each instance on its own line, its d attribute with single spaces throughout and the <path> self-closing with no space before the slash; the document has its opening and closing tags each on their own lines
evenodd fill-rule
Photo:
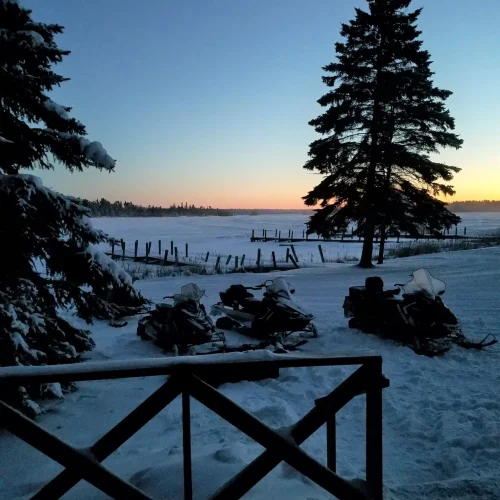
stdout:
<svg viewBox="0 0 500 500">
<path fill-rule="evenodd" d="M 444 105 L 451 92 L 434 86 L 419 40 L 422 9 L 408 11 L 411 0 L 367 3 L 342 24 L 337 61 L 323 68 L 331 90 L 318 103 L 327 109 L 310 122 L 323 137 L 310 145 L 304 168 L 324 179 L 303 198 L 321 207 L 309 232 L 328 236 L 357 224 L 362 267 L 372 265 L 376 231 L 383 239 L 389 230 L 440 231 L 460 220 L 435 198 L 454 194 L 447 182 L 460 169 L 429 155 L 462 145 Z"/>
</svg>

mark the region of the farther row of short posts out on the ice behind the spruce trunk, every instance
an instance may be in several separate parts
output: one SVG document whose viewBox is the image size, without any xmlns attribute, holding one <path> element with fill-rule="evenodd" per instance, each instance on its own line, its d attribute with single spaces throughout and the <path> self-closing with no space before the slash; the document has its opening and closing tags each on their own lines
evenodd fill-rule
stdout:
<svg viewBox="0 0 500 500">
<path fill-rule="evenodd" d="M 459 235 L 458 234 L 458 226 L 455 226 L 455 234 L 450 234 L 450 229 L 443 229 L 441 233 L 438 234 L 430 234 L 426 233 L 425 229 L 422 232 L 421 235 L 411 235 L 409 233 L 396 233 L 396 234 L 388 234 L 386 236 L 387 238 L 396 238 L 397 242 L 399 243 L 400 238 L 403 239 L 461 239 L 467 237 L 467 227 L 464 227 L 464 234 Z M 311 241 L 311 240 L 320 240 L 324 242 L 338 242 L 338 241 L 354 241 L 355 238 L 357 238 L 357 241 L 362 241 L 362 235 L 355 235 L 355 230 L 354 227 L 351 228 L 350 231 L 348 232 L 342 232 L 342 233 L 337 233 L 334 234 L 331 238 L 322 238 L 319 234 L 316 234 L 315 236 L 310 235 L 307 233 L 307 231 L 303 230 L 302 231 L 302 237 L 294 233 L 293 230 L 289 229 L 288 230 L 288 236 L 286 233 L 281 234 L 281 231 L 278 231 L 278 229 L 274 230 L 274 236 L 273 236 L 273 231 L 268 230 L 268 229 L 263 229 L 262 230 L 262 236 L 257 236 L 255 229 L 252 229 L 252 236 L 250 238 L 250 241 L 277 241 L 277 242 L 287 242 L 289 241 L 290 243 L 293 242 L 299 242 L 299 241 Z M 375 241 L 378 241 L 380 238 L 380 235 L 376 234 L 375 235 Z"/>
</svg>

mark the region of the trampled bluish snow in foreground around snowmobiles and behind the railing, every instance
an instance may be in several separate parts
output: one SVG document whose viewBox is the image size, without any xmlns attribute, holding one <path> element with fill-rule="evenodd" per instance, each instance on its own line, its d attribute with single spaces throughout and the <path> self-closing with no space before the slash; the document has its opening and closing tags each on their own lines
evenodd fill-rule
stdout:
<svg viewBox="0 0 500 500">
<path fill-rule="evenodd" d="M 148 221 L 145 220 L 145 223 Z M 170 223 L 169 220 L 166 223 Z M 369 349 L 383 356 L 390 379 L 384 391 L 384 467 L 389 499 L 500 498 L 500 346 L 482 352 L 453 348 L 442 358 L 417 356 L 409 348 L 346 327 L 342 301 L 349 285 L 380 274 L 388 286 L 427 267 L 444 279 L 447 304 L 462 319 L 465 333 L 481 339 L 499 334 L 500 248 L 396 259 L 376 270 L 346 264 L 287 273 L 301 305 L 314 313 L 320 337 L 303 347 L 306 352 L 356 353 Z M 206 290 L 204 303 L 217 301 L 218 292 L 245 280 L 254 284 L 272 275 L 198 276 Z M 155 300 L 170 294 L 189 278 L 137 282 Z M 157 357 L 162 354 L 135 334 L 136 320 L 122 329 L 105 323 L 93 326 L 94 360 Z M 289 426 L 304 415 L 314 400 L 343 380 L 351 369 L 283 370 L 276 380 L 226 384 L 221 390 L 273 427 Z M 82 382 L 78 390 L 47 404 L 38 422 L 75 446 L 91 445 L 135 408 L 163 378 Z M 123 445 L 106 466 L 155 498 L 182 498 L 181 405 L 174 401 Z M 364 474 L 364 401 L 359 397 L 338 414 L 338 470 L 347 477 Z M 193 402 L 193 467 L 195 498 L 207 498 L 262 449 L 208 409 Z M 326 462 L 324 429 L 304 448 Z M 29 498 L 60 467 L 6 432 L 0 432 L 0 498 Z M 104 496 L 81 483 L 64 498 Z M 329 498 L 283 464 L 245 498 Z"/>
</svg>

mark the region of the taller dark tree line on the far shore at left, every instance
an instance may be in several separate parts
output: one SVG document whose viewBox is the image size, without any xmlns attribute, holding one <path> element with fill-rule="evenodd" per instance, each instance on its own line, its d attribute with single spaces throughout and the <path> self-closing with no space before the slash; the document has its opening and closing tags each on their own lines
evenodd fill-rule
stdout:
<svg viewBox="0 0 500 500">
<path fill-rule="evenodd" d="M 230 216 L 231 211 L 212 207 L 196 207 L 188 203 L 175 203 L 167 207 L 155 205 L 136 205 L 130 201 L 108 201 L 104 198 L 90 201 L 81 200 L 82 205 L 90 208 L 92 217 L 179 217 L 181 215 L 201 216 L 217 215 Z"/>
</svg>

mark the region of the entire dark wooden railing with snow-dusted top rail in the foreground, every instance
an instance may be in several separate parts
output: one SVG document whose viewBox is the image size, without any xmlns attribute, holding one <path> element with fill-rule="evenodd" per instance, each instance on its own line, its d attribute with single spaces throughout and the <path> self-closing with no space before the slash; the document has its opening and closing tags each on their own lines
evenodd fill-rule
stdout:
<svg viewBox="0 0 500 500">
<path fill-rule="evenodd" d="M 361 365 L 284 433 L 273 430 L 229 400 L 211 384 L 227 380 L 225 374 L 244 378 L 255 370 Z M 184 498 L 193 496 L 191 470 L 190 397 L 194 397 L 266 450 L 212 495 L 212 499 L 237 499 L 261 481 L 282 461 L 340 499 L 382 499 L 382 390 L 388 380 L 379 356 L 277 355 L 268 351 L 244 354 L 190 356 L 165 359 L 88 362 L 77 365 L 0 368 L 0 385 L 25 386 L 45 382 L 76 382 L 126 377 L 170 375 L 167 381 L 90 448 L 78 449 L 64 442 L 23 414 L 0 401 L 0 426 L 52 458 L 63 467 L 58 476 L 33 499 L 60 498 L 81 479 L 112 498 L 146 499 L 147 494 L 116 476 L 101 462 L 139 431 L 177 396 L 182 397 Z M 354 397 L 366 394 L 366 481 L 355 486 L 336 472 L 335 415 Z M 326 424 L 327 466 L 299 446 Z"/>
</svg>

